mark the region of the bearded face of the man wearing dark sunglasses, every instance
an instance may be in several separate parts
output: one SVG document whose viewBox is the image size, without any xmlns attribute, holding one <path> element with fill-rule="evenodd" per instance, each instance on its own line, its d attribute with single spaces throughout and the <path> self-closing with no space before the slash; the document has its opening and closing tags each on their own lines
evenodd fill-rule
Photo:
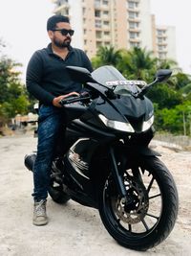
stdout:
<svg viewBox="0 0 191 256">
<path fill-rule="evenodd" d="M 69 47 L 71 44 L 73 30 L 71 29 L 71 25 L 69 23 L 59 22 L 49 35 L 55 46 L 58 48 L 65 48 Z"/>
</svg>

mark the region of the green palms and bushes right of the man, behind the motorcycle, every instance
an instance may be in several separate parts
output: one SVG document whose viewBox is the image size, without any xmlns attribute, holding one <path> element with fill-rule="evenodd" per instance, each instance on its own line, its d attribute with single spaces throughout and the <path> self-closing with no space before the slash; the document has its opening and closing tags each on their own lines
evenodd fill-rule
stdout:
<svg viewBox="0 0 191 256">
<path fill-rule="evenodd" d="M 94 67 L 113 65 L 128 80 L 153 80 L 157 70 L 175 70 L 171 78 L 153 86 L 147 93 L 155 106 L 156 128 L 174 134 L 191 135 L 191 78 L 172 59 L 160 60 L 145 48 L 130 51 L 101 47 L 93 58 Z"/>
</svg>

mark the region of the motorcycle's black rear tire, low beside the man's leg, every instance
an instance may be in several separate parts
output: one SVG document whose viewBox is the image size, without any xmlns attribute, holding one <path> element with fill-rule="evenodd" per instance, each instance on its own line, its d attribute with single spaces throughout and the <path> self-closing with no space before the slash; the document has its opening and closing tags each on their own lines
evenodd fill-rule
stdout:
<svg viewBox="0 0 191 256">
<path fill-rule="evenodd" d="M 51 196 L 51 198 L 53 198 L 53 201 L 59 204 L 64 204 L 68 200 L 70 200 L 70 197 L 63 191 L 63 188 L 61 185 L 59 186 L 51 185 L 49 187 L 49 195 Z"/>
</svg>

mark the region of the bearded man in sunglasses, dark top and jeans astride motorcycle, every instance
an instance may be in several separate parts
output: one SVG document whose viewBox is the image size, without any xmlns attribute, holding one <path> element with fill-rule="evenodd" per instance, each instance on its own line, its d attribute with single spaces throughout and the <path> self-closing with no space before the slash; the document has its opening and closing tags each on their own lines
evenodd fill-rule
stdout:
<svg viewBox="0 0 191 256">
<path fill-rule="evenodd" d="M 33 167 L 34 225 L 48 223 L 46 200 L 50 185 L 50 172 L 58 133 L 66 123 L 60 100 L 78 95 L 80 83 L 71 81 L 66 66 L 74 65 L 93 71 L 89 58 L 82 50 L 71 46 L 72 30 L 69 18 L 53 15 L 47 21 L 51 43 L 36 51 L 27 68 L 27 89 L 39 101 L 38 145 Z"/>
</svg>

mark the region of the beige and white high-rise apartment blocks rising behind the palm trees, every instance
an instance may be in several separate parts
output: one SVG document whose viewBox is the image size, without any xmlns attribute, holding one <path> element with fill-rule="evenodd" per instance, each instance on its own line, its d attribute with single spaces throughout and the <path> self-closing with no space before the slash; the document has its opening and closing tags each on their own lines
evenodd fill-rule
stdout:
<svg viewBox="0 0 191 256">
<path fill-rule="evenodd" d="M 99 46 L 110 45 L 116 49 L 145 47 L 159 58 L 174 57 L 175 40 L 170 39 L 174 38 L 173 29 L 166 28 L 166 40 L 161 42 L 161 32 L 150 14 L 150 0 L 52 1 L 54 13 L 70 16 L 75 31 L 73 45 L 89 58 L 96 56 Z"/>
</svg>

